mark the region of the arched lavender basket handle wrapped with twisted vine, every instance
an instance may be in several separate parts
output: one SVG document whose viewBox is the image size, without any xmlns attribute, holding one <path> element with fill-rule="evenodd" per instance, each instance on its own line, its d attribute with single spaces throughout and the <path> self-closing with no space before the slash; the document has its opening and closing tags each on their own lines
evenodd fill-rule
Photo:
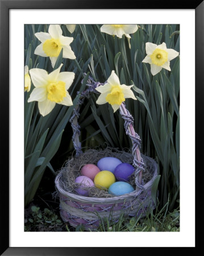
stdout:
<svg viewBox="0 0 204 256">
<path fill-rule="evenodd" d="M 88 86 L 88 89 L 80 93 L 80 99 L 77 102 L 76 108 L 73 109 L 73 115 L 69 120 L 73 129 L 72 141 L 73 141 L 74 148 L 76 150 L 76 155 L 82 154 L 81 142 L 79 139 L 80 126 L 78 125 L 78 117 L 80 116 L 80 106 L 84 102 L 85 98 L 90 97 L 91 93 L 99 94 L 99 92 L 97 92 L 95 88 L 103 84 L 101 84 L 100 82 L 95 82 L 91 77 L 89 77 L 88 81 L 86 82 L 86 85 Z M 134 126 L 133 126 L 134 118 L 132 117 L 130 112 L 128 112 L 128 110 L 126 109 L 124 102 L 120 105 L 119 109 L 120 109 L 120 115 L 124 119 L 124 129 L 126 130 L 126 134 L 128 134 L 128 136 L 131 138 L 131 141 L 132 141 L 132 155 L 134 156 L 133 165 L 136 169 L 135 183 L 138 189 L 139 188 L 143 189 L 142 173 L 144 170 L 144 162 L 143 162 L 143 159 L 141 158 L 140 149 L 139 149 L 141 140 L 139 135 L 135 133 Z"/>
</svg>

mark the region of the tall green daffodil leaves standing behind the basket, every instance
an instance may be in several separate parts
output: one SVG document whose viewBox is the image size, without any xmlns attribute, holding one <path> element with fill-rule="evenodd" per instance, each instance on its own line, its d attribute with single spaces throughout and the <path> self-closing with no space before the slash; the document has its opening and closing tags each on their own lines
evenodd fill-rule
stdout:
<svg viewBox="0 0 204 256">
<path fill-rule="evenodd" d="M 43 68 L 52 72 L 48 57 L 34 55 L 40 43 L 35 32 L 47 32 L 49 25 L 25 25 L 25 65 L 31 68 Z M 101 25 L 81 24 L 71 35 L 65 25 L 61 25 L 64 36 L 73 36 L 70 44 L 76 60 L 62 58 L 62 52 L 56 62 L 61 61 L 61 71 L 74 72 L 75 79 L 69 89 L 74 105 L 77 104 L 77 92 L 83 73 L 90 72 L 96 81 L 105 82 L 112 70 L 115 70 L 121 84 L 132 85 L 137 101 L 126 100 L 127 109 L 135 121 L 135 131 L 141 138 L 141 152 L 156 158 L 159 163 L 160 205 L 168 201 L 169 209 L 176 207 L 180 189 L 180 58 L 170 61 L 171 72 L 162 69 L 152 76 L 150 65 L 141 61 L 146 56 L 145 43 L 160 44 L 180 51 L 180 27 L 176 24 L 141 24 L 138 31 L 128 40 L 100 31 Z M 32 85 L 32 89 L 34 86 Z M 31 90 L 32 90 L 31 89 Z M 25 97 L 25 204 L 35 195 L 45 168 L 53 172 L 51 160 L 59 149 L 64 129 L 70 129 L 69 119 L 73 107 L 56 105 L 45 117 L 41 117 L 37 102 L 27 102 L 31 92 Z M 79 119 L 83 146 L 97 146 L 104 142 L 120 149 L 131 147 L 130 139 L 124 132 L 123 120 L 119 113 L 113 113 L 109 104 L 97 105 L 96 95 L 85 101 Z M 70 143 L 72 133 L 64 138 L 65 152 L 72 154 Z M 63 163 L 62 163 L 63 165 Z M 156 193 L 156 192 L 155 192 Z M 156 195 L 156 194 L 155 194 Z M 156 197 L 155 197 L 156 199 Z"/>
</svg>

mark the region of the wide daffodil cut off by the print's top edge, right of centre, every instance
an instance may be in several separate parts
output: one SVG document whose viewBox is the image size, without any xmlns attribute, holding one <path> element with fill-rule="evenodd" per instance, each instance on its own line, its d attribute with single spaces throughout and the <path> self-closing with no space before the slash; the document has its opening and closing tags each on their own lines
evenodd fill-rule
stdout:
<svg viewBox="0 0 204 256">
<path fill-rule="evenodd" d="M 123 35 L 131 38 L 129 34 L 135 33 L 137 30 L 138 26 L 135 24 L 107 24 L 101 27 L 101 32 L 116 35 L 118 38 L 122 38 Z"/>
</svg>

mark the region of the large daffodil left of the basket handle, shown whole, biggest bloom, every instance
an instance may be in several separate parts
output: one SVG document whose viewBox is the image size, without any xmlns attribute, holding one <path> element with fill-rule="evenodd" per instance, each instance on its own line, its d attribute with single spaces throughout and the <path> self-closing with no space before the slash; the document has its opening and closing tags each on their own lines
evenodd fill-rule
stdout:
<svg viewBox="0 0 204 256">
<path fill-rule="evenodd" d="M 40 114 L 45 116 L 55 107 L 56 103 L 71 106 L 72 98 L 68 93 L 69 87 L 74 80 L 73 72 L 61 72 L 60 65 L 55 71 L 47 73 L 44 69 L 32 68 L 30 75 L 35 86 L 28 98 L 28 102 L 38 101 Z"/>
</svg>

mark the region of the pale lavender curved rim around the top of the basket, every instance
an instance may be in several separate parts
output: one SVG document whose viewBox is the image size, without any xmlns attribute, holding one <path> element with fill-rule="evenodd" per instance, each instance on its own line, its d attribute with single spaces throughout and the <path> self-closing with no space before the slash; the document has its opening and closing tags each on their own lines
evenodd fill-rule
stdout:
<svg viewBox="0 0 204 256">
<path fill-rule="evenodd" d="M 144 155 L 143 155 L 144 156 Z M 151 160 L 156 168 L 155 168 L 155 172 L 153 173 L 152 178 L 143 185 L 144 187 L 144 191 L 146 191 L 150 185 L 153 183 L 153 181 L 156 179 L 156 177 L 158 176 L 157 174 L 157 163 L 154 159 L 149 158 L 149 156 L 144 156 L 145 158 L 148 158 L 149 160 Z M 63 175 L 63 172 L 59 172 L 59 174 L 57 174 L 56 178 L 55 178 L 55 185 L 57 188 L 57 191 L 59 191 L 63 196 L 66 197 L 70 197 L 73 200 L 78 200 L 78 201 L 83 201 L 83 203 L 103 203 L 103 201 L 105 201 L 104 203 L 115 203 L 118 202 L 120 200 L 124 201 L 125 199 L 135 199 L 135 197 L 137 197 L 138 195 L 140 195 L 140 193 L 142 193 L 143 191 L 141 191 L 141 189 L 139 189 L 138 191 L 136 191 L 136 189 L 130 193 L 121 195 L 121 196 L 113 196 L 113 197 L 88 197 L 88 196 L 81 196 L 81 195 L 76 195 L 72 192 L 68 192 L 65 191 L 63 188 L 61 188 L 59 180 L 61 178 L 61 176 Z M 119 202 L 118 202 L 119 203 Z"/>
</svg>

